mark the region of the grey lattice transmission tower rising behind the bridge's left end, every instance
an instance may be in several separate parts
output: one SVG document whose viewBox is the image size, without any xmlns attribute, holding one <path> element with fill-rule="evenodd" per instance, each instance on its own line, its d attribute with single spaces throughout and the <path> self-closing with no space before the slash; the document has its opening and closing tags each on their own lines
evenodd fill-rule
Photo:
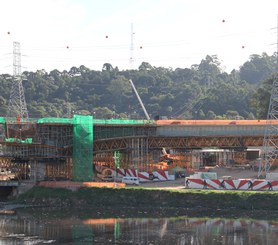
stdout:
<svg viewBox="0 0 278 245">
<path fill-rule="evenodd" d="M 28 119 L 28 111 L 22 86 L 20 43 L 13 43 L 13 81 L 7 117 Z"/>
</svg>

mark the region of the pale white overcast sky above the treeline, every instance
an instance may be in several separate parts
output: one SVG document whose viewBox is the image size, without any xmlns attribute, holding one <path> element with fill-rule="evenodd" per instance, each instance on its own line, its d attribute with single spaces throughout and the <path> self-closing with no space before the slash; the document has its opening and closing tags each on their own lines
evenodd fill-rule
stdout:
<svg viewBox="0 0 278 245">
<path fill-rule="evenodd" d="M 190 68 L 217 55 L 238 69 L 277 50 L 277 0 L 0 0 L 0 74 L 22 71 Z M 133 26 L 133 33 L 131 31 Z M 133 50 L 131 49 L 133 41 Z M 130 59 L 133 62 L 130 62 Z"/>
</svg>

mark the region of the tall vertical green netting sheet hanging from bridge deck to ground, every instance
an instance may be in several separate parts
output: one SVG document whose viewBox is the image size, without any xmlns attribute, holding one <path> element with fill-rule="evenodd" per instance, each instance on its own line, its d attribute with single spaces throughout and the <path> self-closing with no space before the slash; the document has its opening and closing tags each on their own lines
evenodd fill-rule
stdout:
<svg viewBox="0 0 278 245">
<path fill-rule="evenodd" d="M 74 115 L 73 123 L 73 180 L 92 181 L 93 117 Z"/>
</svg>

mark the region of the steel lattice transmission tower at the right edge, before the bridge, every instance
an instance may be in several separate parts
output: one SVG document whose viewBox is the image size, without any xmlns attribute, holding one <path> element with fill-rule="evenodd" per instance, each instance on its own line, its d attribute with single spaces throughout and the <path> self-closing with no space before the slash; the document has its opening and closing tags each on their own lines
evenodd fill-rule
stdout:
<svg viewBox="0 0 278 245">
<path fill-rule="evenodd" d="M 278 126 L 272 120 L 278 119 L 278 75 L 274 77 L 269 101 L 267 125 L 263 140 L 263 156 L 259 165 L 258 177 L 265 176 L 278 156 Z"/>
</svg>

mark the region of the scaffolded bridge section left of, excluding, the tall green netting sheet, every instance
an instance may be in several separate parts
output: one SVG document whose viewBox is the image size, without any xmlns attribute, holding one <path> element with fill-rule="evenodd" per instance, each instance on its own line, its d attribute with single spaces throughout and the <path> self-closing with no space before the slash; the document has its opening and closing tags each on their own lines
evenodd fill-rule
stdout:
<svg viewBox="0 0 278 245">
<path fill-rule="evenodd" d="M 72 120 L 0 118 L 1 161 L 11 159 L 18 179 L 58 179 L 72 176 Z M 30 166 L 32 167 L 29 170 Z M 30 173 L 32 172 L 32 174 Z"/>
</svg>

